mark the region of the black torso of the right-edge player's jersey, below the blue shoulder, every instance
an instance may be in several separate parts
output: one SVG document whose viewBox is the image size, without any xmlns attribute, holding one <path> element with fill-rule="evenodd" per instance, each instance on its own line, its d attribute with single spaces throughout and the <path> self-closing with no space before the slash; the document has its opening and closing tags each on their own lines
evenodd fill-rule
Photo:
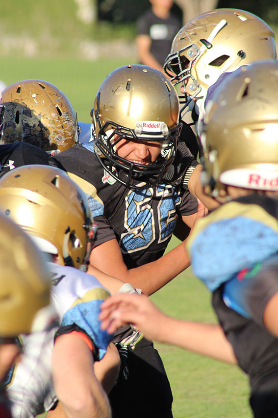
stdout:
<svg viewBox="0 0 278 418">
<path fill-rule="evenodd" d="M 275 275 L 277 278 L 277 271 Z M 264 279 L 267 281 L 267 277 Z M 212 305 L 238 365 L 248 374 L 254 417 L 278 417 L 278 339 L 252 319 L 227 307 L 223 285 L 213 292 Z"/>
</svg>

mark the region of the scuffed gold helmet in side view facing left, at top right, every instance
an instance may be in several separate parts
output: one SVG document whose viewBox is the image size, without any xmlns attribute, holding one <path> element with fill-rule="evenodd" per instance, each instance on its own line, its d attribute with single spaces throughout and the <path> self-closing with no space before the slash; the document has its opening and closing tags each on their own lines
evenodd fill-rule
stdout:
<svg viewBox="0 0 278 418">
<path fill-rule="evenodd" d="M 180 103 L 187 105 L 194 97 L 202 98 L 222 73 L 272 58 L 276 58 L 275 35 L 263 20 L 244 10 L 215 9 L 179 30 L 164 71 L 171 77 L 176 74 L 171 81 L 181 83 Z"/>
</svg>

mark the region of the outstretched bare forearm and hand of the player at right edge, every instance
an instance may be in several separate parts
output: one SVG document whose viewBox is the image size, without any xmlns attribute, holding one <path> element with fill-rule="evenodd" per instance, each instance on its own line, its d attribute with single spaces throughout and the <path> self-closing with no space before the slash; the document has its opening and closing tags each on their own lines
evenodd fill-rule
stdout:
<svg viewBox="0 0 278 418">
<path fill-rule="evenodd" d="M 112 296 L 101 305 L 99 318 L 102 328 L 109 333 L 131 323 L 151 340 L 236 364 L 232 347 L 220 325 L 172 318 L 161 312 L 145 295 Z"/>
</svg>

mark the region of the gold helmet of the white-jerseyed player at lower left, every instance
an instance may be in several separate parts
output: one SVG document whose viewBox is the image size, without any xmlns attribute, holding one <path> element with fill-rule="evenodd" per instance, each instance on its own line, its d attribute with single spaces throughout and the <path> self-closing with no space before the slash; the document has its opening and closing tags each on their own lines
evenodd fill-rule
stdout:
<svg viewBox="0 0 278 418">
<path fill-rule="evenodd" d="M 60 264 L 83 269 L 95 227 L 86 196 L 64 171 L 31 165 L 8 172 L 0 179 L 0 210 Z"/>
</svg>

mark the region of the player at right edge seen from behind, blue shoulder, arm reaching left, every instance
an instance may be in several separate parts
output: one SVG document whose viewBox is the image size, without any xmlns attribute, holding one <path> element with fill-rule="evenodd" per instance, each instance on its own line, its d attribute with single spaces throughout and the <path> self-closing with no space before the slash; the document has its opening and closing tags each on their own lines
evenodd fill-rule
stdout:
<svg viewBox="0 0 278 418">
<path fill-rule="evenodd" d="M 237 362 L 255 418 L 278 416 L 277 97 L 278 63 L 258 61 L 227 79 L 205 117 L 205 190 L 218 198 L 225 189 L 227 199 L 196 223 L 187 248 L 227 339 L 217 325 L 177 321 L 139 296 L 113 296 L 100 316 L 111 332 L 128 321 L 158 341 Z"/>
</svg>

